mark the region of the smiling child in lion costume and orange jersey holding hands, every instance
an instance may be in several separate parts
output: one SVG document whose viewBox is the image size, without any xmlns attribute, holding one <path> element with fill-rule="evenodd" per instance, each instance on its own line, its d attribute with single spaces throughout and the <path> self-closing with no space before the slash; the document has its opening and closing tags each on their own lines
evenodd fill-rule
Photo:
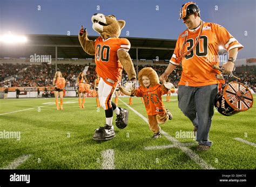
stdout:
<svg viewBox="0 0 256 187">
<path fill-rule="evenodd" d="M 143 68 L 139 71 L 139 84 L 139 88 L 133 88 L 131 92 L 126 91 L 120 85 L 119 90 L 128 96 L 143 97 L 149 127 L 154 133 L 152 138 L 160 138 L 159 124 L 164 124 L 168 119 L 172 119 L 172 114 L 165 109 L 161 96 L 165 95 L 173 87 L 173 84 L 159 84 L 158 75 L 152 68 Z"/>
</svg>

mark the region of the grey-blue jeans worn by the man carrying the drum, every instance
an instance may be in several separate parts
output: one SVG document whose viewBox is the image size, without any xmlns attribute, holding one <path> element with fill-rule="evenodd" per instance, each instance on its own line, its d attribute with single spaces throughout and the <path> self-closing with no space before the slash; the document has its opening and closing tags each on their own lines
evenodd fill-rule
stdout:
<svg viewBox="0 0 256 187">
<path fill-rule="evenodd" d="M 178 88 L 179 108 L 197 128 L 197 141 L 199 144 L 211 146 L 208 135 L 214 112 L 214 100 L 218 93 L 217 84 L 204 87 Z"/>
</svg>

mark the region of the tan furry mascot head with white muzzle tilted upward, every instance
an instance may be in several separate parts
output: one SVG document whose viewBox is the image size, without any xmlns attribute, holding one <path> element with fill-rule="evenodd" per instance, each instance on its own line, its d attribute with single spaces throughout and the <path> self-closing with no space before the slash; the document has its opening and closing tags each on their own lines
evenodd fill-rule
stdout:
<svg viewBox="0 0 256 187">
<path fill-rule="evenodd" d="M 95 13 L 92 16 L 92 28 L 98 32 L 103 39 L 110 37 L 118 38 L 122 28 L 125 26 L 124 20 L 117 20 L 115 16 L 105 16 L 102 13 Z"/>
</svg>

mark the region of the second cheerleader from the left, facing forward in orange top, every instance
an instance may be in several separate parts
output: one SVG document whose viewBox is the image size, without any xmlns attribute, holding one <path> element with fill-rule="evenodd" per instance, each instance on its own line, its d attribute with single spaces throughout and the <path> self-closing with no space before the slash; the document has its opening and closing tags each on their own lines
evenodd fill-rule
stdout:
<svg viewBox="0 0 256 187">
<path fill-rule="evenodd" d="M 78 104 L 79 108 L 84 108 L 84 102 L 85 102 L 85 94 L 86 94 L 86 77 L 83 72 L 79 73 L 79 76 L 77 77 L 77 84 L 78 84 Z M 81 95 L 82 95 L 82 105 L 81 105 Z"/>
</svg>

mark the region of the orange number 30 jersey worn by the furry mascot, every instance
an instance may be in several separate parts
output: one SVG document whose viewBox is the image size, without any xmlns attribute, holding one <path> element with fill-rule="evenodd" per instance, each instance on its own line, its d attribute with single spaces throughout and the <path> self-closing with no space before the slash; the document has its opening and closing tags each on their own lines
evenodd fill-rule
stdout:
<svg viewBox="0 0 256 187">
<path fill-rule="evenodd" d="M 123 66 L 118 60 L 117 51 L 129 51 L 131 44 L 125 38 L 98 37 L 95 40 L 95 63 L 99 77 L 110 78 L 114 82 L 121 80 Z"/>
</svg>

